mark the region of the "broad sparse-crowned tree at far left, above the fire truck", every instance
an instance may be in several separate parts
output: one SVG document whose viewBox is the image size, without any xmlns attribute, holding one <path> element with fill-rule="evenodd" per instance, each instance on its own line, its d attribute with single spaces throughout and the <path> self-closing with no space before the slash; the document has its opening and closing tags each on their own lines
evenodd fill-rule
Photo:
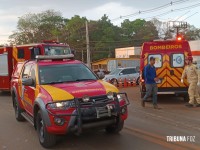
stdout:
<svg viewBox="0 0 200 150">
<path fill-rule="evenodd" d="M 47 10 L 38 14 L 25 14 L 17 23 L 17 30 L 9 36 L 14 44 L 28 44 L 43 40 L 57 39 L 64 41 L 60 36 L 64 31 L 66 20 L 60 12 Z"/>
</svg>

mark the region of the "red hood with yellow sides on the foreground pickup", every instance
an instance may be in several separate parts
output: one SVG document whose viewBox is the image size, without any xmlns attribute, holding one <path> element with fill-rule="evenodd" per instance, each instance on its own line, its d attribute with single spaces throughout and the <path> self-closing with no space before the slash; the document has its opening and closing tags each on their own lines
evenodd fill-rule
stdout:
<svg viewBox="0 0 200 150">
<path fill-rule="evenodd" d="M 108 92 L 119 92 L 115 86 L 102 80 L 41 85 L 41 88 L 48 92 L 53 101 L 71 100 L 74 97 L 82 98 L 85 95 L 92 97 L 106 95 Z"/>
</svg>

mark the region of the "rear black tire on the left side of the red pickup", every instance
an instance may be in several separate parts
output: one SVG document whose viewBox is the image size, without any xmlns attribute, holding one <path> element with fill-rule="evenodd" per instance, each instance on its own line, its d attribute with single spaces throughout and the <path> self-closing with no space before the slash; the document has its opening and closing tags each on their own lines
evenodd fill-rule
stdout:
<svg viewBox="0 0 200 150">
<path fill-rule="evenodd" d="M 13 97 L 13 107 L 15 110 L 15 118 L 17 121 L 25 121 L 25 118 L 21 115 L 21 113 L 23 112 L 23 109 L 21 109 L 19 102 L 17 100 L 17 97 L 14 95 Z"/>
</svg>

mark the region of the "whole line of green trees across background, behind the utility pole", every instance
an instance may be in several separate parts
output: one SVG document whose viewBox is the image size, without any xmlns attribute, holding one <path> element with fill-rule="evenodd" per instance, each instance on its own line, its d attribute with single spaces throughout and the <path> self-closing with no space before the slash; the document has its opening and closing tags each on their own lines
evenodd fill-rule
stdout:
<svg viewBox="0 0 200 150">
<path fill-rule="evenodd" d="M 151 21 L 126 19 L 121 26 L 116 26 L 106 15 L 99 20 L 87 20 L 78 15 L 68 19 L 60 12 L 47 10 L 20 17 L 16 31 L 9 37 L 10 43 L 19 45 L 57 40 L 68 43 L 72 49 L 75 49 L 77 59 L 86 60 L 86 21 L 88 21 L 92 61 L 114 57 L 115 48 L 141 46 L 145 41 L 170 38 L 174 35 L 168 31 L 165 22 L 155 18 Z M 185 38 L 199 39 L 200 30 L 189 26 Z"/>
</svg>

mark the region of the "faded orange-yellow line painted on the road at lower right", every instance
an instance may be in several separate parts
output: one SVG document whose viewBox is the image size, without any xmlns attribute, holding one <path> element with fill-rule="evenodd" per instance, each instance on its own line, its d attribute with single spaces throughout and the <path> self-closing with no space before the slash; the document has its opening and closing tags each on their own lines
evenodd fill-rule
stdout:
<svg viewBox="0 0 200 150">
<path fill-rule="evenodd" d="M 159 136 L 157 134 L 154 133 L 150 133 L 144 130 L 140 130 L 140 129 L 136 129 L 136 128 L 130 128 L 125 126 L 124 127 L 125 130 L 128 131 L 128 133 L 133 133 L 134 135 L 136 135 L 137 137 L 140 137 L 142 139 L 145 139 L 147 141 L 159 144 L 161 146 L 167 147 L 169 149 L 177 149 L 177 150 L 199 150 L 199 146 L 194 145 L 194 144 L 189 144 L 189 143 L 180 143 L 180 142 L 167 142 L 167 139 L 164 138 L 163 136 Z M 131 132 L 130 132 L 131 131 Z"/>
</svg>

